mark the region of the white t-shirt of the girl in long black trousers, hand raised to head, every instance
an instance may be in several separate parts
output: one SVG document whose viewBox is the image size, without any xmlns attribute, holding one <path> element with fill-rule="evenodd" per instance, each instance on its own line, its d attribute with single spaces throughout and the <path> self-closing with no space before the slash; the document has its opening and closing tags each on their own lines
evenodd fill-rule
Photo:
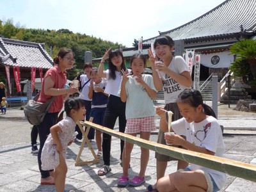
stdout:
<svg viewBox="0 0 256 192">
<path fill-rule="evenodd" d="M 128 69 L 128 72 L 131 72 L 131 69 Z M 109 95 L 115 95 L 117 97 L 118 96 L 118 90 L 119 90 L 119 86 L 121 83 L 121 79 L 122 79 L 122 73 L 115 71 L 116 74 L 116 79 L 109 79 L 109 69 L 107 69 L 105 71 L 106 74 L 106 79 L 108 81 L 106 89 L 105 89 L 105 93 L 108 93 Z"/>
</svg>

